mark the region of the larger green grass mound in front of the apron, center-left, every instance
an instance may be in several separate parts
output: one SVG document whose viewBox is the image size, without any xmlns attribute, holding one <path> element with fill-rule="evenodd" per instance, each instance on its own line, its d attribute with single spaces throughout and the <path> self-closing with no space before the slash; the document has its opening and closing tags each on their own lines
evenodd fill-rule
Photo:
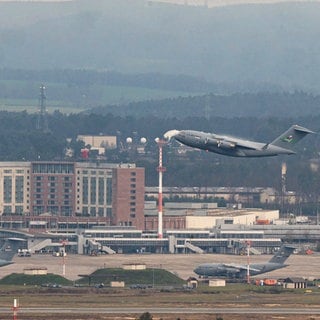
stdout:
<svg viewBox="0 0 320 320">
<path fill-rule="evenodd" d="M 154 285 L 154 286 L 182 286 L 185 281 L 163 269 L 123 270 L 105 268 L 93 272 L 91 275 L 77 281 L 78 284 L 109 284 L 111 281 L 124 281 L 126 286 Z"/>
</svg>

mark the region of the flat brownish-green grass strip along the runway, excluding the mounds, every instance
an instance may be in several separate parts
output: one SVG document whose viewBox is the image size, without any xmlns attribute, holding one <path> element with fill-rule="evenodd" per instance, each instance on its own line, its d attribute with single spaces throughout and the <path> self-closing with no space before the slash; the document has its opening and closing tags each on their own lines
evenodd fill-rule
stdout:
<svg viewBox="0 0 320 320">
<path fill-rule="evenodd" d="M 20 279 L 22 280 L 22 279 Z M 53 279 L 51 279 L 53 280 Z M 57 279 L 56 279 L 57 280 Z M 257 314 L 156 314 L 153 320 L 316 320 L 312 315 L 272 315 L 274 307 L 305 308 L 319 307 L 320 292 L 313 288 L 305 290 L 284 290 L 282 288 L 257 287 L 247 284 L 229 284 L 226 287 L 209 288 L 201 285 L 197 289 L 185 289 L 181 286 L 164 288 L 155 286 L 146 289 L 98 288 L 96 286 L 65 285 L 59 288 L 43 287 L 40 285 L 0 285 L 0 307 L 12 306 L 13 300 L 18 299 L 19 319 L 140 319 L 143 315 L 135 314 L 37 314 L 24 313 L 26 307 L 62 308 L 143 308 L 148 311 L 155 307 L 162 308 L 270 308 L 271 313 Z M 257 309 L 258 310 L 258 309 Z M 7 314 L 1 314 L 1 319 L 11 319 Z"/>
</svg>

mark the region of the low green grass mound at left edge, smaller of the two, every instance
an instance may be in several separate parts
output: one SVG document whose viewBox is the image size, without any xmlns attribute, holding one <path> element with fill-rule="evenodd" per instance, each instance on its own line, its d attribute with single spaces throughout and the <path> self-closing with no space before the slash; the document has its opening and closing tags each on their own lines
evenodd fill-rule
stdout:
<svg viewBox="0 0 320 320">
<path fill-rule="evenodd" d="M 72 285 L 73 282 L 64 277 L 52 273 L 46 275 L 27 275 L 23 273 L 12 273 L 0 280 L 0 285 Z"/>
</svg>

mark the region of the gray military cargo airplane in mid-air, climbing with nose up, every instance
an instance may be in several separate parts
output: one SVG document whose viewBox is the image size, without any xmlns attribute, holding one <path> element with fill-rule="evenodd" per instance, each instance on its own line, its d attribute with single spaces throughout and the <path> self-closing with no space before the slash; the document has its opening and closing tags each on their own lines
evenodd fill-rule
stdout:
<svg viewBox="0 0 320 320">
<path fill-rule="evenodd" d="M 195 130 L 169 130 L 164 138 L 181 142 L 192 148 L 202 149 L 232 157 L 269 157 L 280 154 L 294 154 L 291 146 L 313 131 L 291 126 L 286 132 L 270 143 L 249 141 L 237 137 L 207 133 Z"/>
</svg>

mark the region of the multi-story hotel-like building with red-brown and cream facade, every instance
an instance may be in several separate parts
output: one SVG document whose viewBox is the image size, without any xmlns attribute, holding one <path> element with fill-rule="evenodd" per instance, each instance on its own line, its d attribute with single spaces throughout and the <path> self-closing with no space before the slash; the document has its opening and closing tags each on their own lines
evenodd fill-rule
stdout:
<svg viewBox="0 0 320 320">
<path fill-rule="evenodd" d="M 0 162 L 0 216 L 144 226 L 144 169 L 133 164 Z"/>
</svg>

